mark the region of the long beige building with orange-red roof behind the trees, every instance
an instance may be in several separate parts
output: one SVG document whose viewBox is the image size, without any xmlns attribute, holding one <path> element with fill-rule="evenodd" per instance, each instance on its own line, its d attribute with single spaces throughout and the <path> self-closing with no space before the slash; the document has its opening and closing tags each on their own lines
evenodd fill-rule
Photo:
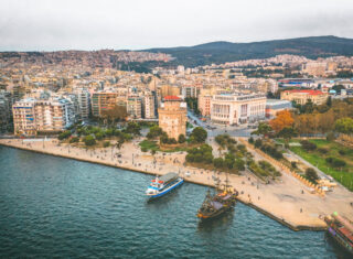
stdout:
<svg viewBox="0 0 353 259">
<path fill-rule="evenodd" d="M 315 105 L 322 105 L 329 97 L 328 93 L 321 90 L 285 90 L 280 93 L 281 100 L 296 101 L 298 105 L 304 105 L 310 99 Z"/>
</svg>

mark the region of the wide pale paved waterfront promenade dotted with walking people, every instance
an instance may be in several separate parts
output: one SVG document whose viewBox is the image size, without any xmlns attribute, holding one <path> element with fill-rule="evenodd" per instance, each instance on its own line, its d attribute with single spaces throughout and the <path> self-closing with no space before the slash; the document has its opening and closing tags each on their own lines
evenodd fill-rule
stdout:
<svg viewBox="0 0 353 259">
<path fill-rule="evenodd" d="M 75 148 L 68 144 L 58 144 L 57 140 L 0 139 L 0 144 L 154 175 L 176 172 L 182 176 L 190 175 L 185 176 L 186 182 L 208 186 L 214 185 L 213 177 L 220 177 L 223 183 L 226 177 L 225 173 L 216 173 L 215 175 L 214 172 L 207 170 L 184 166 L 185 152 L 165 154 L 158 152 L 154 155 L 143 153 L 137 141 L 125 143 L 120 150 L 115 147 L 106 149 Z M 249 151 L 255 155 L 255 160 L 264 159 L 255 150 Z M 228 179 L 231 185 L 239 192 L 240 202 L 293 230 L 325 229 L 322 217 L 333 212 L 339 212 L 353 219 L 353 207 L 350 205 L 353 202 L 353 194 L 342 186 L 321 196 L 311 194 L 304 184 L 286 173 L 282 173 L 280 180 L 270 184 L 264 184 L 248 172 L 243 172 L 243 175 L 231 174 Z M 146 184 L 148 185 L 148 183 Z"/>
</svg>

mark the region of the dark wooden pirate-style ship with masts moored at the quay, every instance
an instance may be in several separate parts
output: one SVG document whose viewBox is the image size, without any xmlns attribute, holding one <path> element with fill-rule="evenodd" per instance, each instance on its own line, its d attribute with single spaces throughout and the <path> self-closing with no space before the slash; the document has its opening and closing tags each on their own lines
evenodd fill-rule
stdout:
<svg viewBox="0 0 353 259">
<path fill-rule="evenodd" d="M 211 194 L 211 191 L 207 190 L 206 197 L 197 212 L 197 217 L 201 220 L 205 220 L 221 216 L 235 206 L 237 195 L 238 192 L 229 188 L 228 180 L 226 179 L 223 190 L 217 184 L 214 194 Z"/>
</svg>

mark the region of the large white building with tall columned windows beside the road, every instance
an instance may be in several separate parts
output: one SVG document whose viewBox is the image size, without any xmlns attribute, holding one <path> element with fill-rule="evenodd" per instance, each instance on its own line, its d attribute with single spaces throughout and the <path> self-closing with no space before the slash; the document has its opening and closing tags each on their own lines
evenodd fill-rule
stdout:
<svg viewBox="0 0 353 259">
<path fill-rule="evenodd" d="M 242 125 L 265 119 L 264 94 L 222 94 L 211 100 L 211 120 L 218 125 Z"/>
</svg>

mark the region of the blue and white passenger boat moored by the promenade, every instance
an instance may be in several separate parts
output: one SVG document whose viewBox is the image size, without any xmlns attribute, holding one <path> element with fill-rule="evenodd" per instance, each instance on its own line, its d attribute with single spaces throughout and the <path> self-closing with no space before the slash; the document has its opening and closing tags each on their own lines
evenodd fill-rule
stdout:
<svg viewBox="0 0 353 259">
<path fill-rule="evenodd" d="M 182 185 L 184 179 L 180 177 L 176 173 L 167 173 L 162 176 L 156 176 L 151 181 L 150 186 L 146 191 L 146 195 L 149 198 L 157 198 L 165 195 L 167 193 L 173 191 L 174 188 Z"/>
</svg>

